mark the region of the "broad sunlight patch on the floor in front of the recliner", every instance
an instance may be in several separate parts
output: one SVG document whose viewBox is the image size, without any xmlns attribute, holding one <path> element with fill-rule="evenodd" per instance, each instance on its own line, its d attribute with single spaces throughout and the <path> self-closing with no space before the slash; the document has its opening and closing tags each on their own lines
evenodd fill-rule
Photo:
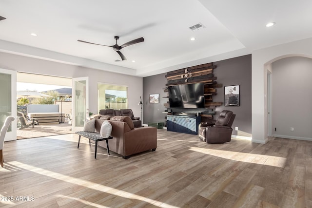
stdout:
<svg viewBox="0 0 312 208">
<path fill-rule="evenodd" d="M 225 159 L 236 160 L 240 162 L 254 163 L 260 165 L 268 165 L 279 168 L 284 168 L 286 164 L 285 157 L 262 155 L 262 154 L 253 154 L 253 153 L 244 153 L 236 151 L 224 151 L 224 150 L 214 150 L 198 147 L 189 147 L 191 151 L 197 151 L 204 154 L 213 155 L 216 157 L 222 157 Z"/>
</svg>

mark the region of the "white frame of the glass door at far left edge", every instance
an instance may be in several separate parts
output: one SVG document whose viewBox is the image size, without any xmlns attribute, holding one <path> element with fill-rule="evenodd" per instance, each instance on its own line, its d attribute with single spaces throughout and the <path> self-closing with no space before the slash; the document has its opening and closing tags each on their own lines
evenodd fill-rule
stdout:
<svg viewBox="0 0 312 208">
<path fill-rule="evenodd" d="M 11 131 L 6 132 L 4 141 L 12 141 L 17 139 L 17 93 L 16 93 L 16 71 L 0 68 L 0 74 L 11 75 L 11 115 L 14 121 L 11 123 Z M 0 127 L 1 128 L 1 127 Z"/>
</svg>

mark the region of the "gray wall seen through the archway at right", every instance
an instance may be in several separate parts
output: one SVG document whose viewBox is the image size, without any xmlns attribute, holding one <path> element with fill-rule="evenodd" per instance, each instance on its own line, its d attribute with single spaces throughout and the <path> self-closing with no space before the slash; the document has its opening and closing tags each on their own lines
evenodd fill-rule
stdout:
<svg viewBox="0 0 312 208">
<path fill-rule="evenodd" d="M 272 71 L 273 136 L 312 140 L 312 59 L 283 58 Z"/>
</svg>

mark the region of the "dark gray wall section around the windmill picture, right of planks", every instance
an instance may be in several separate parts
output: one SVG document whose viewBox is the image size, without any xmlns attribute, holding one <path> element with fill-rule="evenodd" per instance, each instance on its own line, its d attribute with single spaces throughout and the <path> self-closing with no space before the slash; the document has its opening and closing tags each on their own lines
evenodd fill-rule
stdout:
<svg viewBox="0 0 312 208">
<path fill-rule="evenodd" d="M 214 65 L 216 81 L 223 85 L 222 88 L 216 88 L 217 95 L 214 96 L 215 102 L 223 102 L 222 106 L 216 108 L 217 113 L 233 111 L 236 117 L 232 134 L 252 137 L 252 55 L 216 61 Z M 231 85 L 239 85 L 240 106 L 224 106 L 224 87 Z M 235 127 L 238 127 L 238 131 L 235 131 Z"/>
</svg>

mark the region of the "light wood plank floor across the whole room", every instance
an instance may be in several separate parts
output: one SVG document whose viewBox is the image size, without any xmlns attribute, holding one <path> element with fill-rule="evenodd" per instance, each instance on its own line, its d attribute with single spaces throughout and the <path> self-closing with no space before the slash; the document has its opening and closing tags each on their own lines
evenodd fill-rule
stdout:
<svg viewBox="0 0 312 208">
<path fill-rule="evenodd" d="M 5 142 L 0 207 L 311 208 L 312 142 L 207 144 L 157 130 L 157 149 L 125 160 L 78 135 Z"/>
</svg>

